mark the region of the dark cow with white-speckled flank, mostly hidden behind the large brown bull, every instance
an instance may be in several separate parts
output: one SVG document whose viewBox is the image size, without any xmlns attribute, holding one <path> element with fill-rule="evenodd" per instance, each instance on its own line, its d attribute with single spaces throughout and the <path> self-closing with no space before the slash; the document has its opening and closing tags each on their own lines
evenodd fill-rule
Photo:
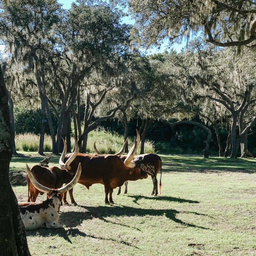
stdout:
<svg viewBox="0 0 256 256">
<path fill-rule="evenodd" d="M 103 155 L 102 153 L 100 153 L 95 145 L 94 142 L 94 150 L 97 154 L 99 155 Z M 122 161 L 125 161 L 127 156 L 120 156 L 120 159 Z M 141 154 L 141 155 L 137 155 L 134 156 L 133 161 L 136 163 L 137 166 L 139 166 L 144 172 L 146 172 L 148 175 L 150 175 L 152 177 L 152 181 L 153 181 L 153 191 L 151 193 L 151 195 L 157 196 L 158 194 L 158 189 L 157 189 L 157 173 L 159 172 L 159 170 L 161 171 L 161 176 L 160 176 L 160 182 L 159 182 L 159 192 L 161 195 L 161 177 L 162 177 L 162 160 L 160 158 L 160 156 L 156 155 L 156 154 Z M 128 181 L 125 182 L 125 194 L 127 193 L 127 184 Z M 119 187 L 118 189 L 118 193 L 117 195 L 119 195 L 121 192 L 121 187 Z"/>
</svg>

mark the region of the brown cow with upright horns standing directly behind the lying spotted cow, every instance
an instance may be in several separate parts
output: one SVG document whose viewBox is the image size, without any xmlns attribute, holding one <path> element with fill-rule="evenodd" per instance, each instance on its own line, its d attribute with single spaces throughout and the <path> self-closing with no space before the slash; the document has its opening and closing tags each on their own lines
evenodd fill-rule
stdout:
<svg viewBox="0 0 256 256">
<path fill-rule="evenodd" d="M 67 159 L 66 163 L 63 165 L 60 165 L 61 169 L 56 166 L 43 167 L 40 165 L 34 165 L 31 168 L 31 172 L 35 177 L 35 180 L 37 180 L 43 186 L 52 188 L 52 189 L 60 188 L 64 183 L 70 182 L 73 179 L 75 173 L 72 170 L 70 170 L 69 165 L 76 157 L 78 151 L 79 151 L 79 147 L 78 147 L 77 141 L 75 140 L 75 150 L 72 154 L 70 154 L 70 157 Z M 61 156 L 64 157 L 66 152 L 67 152 L 67 145 L 66 143 L 64 143 L 64 149 L 62 152 L 63 156 L 62 155 Z M 77 170 L 77 168 L 75 170 Z M 28 175 L 26 176 L 26 180 L 28 184 L 28 202 L 30 201 L 35 202 L 38 194 L 43 195 L 44 192 L 38 190 L 35 186 L 33 186 L 33 184 L 31 184 Z"/>
</svg>

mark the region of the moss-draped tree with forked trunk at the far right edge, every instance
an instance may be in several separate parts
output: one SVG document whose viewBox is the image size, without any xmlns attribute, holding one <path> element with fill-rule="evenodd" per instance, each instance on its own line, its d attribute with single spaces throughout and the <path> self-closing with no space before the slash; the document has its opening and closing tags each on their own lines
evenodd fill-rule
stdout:
<svg viewBox="0 0 256 256">
<path fill-rule="evenodd" d="M 231 47 L 218 52 L 211 47 L 200 47 L 192 54 L 194 57 L 187 53 L 191 63 L 197 63 L 197 66 L 190 66 L 190 84 L 185 85 L 187 96 L 193 95 L 194 100 L 203 98 L 205 101 L 214 101 L 216 109 L 223 116 L 226 111 L 231 114 L 230 157 L 237 157 L 238 146 L 242 141 L 244 143 L 241 144 L 241 155 L 244 156 L 247 151 L 247 132 L 256 122 L 255 114 L 251 115 L 246 125 L 244 122 L 244 113 L 247 113 L 249 106 L 255 102 L 255 54 L 247 52 L 238 56 L 234 54 L 236 50 Z M 238 122 L 240 131 L 237 138 Z"/>
</svg>

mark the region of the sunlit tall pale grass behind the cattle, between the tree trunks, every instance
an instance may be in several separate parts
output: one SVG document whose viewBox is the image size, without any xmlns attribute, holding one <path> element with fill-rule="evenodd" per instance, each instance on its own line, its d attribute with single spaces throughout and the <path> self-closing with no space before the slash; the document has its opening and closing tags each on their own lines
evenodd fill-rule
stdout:
<svg viewBox="0 0 256 256">
<path fill-rule="evenodd" d="M 124 137 L 116 132 L 106 131 L 99 128 L 89 132 L 86 152 L 95 153 L 94 141 L 96 140 L 97 149 L 102 154 L 115 154 L 124 144 Z M 128 148 L 133 146 L 134 140 L 128 139 Z M 35 152 L 39 147 L 39 135 L 33 133 L 17 134 L 15 136 L 15 144 L 17 151 Z M 74 140 L 71 139 L 71 147 L 74 148 Z M 52 152 L 52 139 L 51 136 L 45 135 L 44 137 L 44 151 Z M 140 153 L 140 146 L 137 149 L 137 154 Z M 146 140 L 144 144 L 144 153 L 155 153 L 153 142 Z"/>
</svg>

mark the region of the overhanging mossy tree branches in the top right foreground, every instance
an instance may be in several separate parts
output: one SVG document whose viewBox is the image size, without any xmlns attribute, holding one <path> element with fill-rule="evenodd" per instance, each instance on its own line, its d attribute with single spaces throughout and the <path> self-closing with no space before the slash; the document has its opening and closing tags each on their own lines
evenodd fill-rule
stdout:
<svg viewBox="0 0 256 256">
<path fill-rule="evenodd" d="M 165 38 L 179 43 L 201 31 L 217 46 L 256 45 L 253 1 L 129 0 L 128 5 L 136 20 L 135 33 L 147 46 L 158 46 Z"/>
</svg>

